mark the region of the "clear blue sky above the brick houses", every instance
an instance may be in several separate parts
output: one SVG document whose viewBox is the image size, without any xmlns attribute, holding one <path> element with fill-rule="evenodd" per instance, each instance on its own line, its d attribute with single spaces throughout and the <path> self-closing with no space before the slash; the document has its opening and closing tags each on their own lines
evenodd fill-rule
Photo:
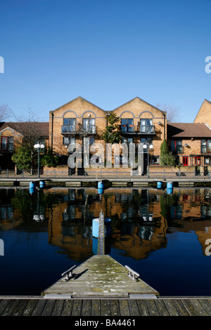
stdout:
<svg viewBox="0 0 211 330">
<path fill-rule="evenodd" d="M 17 115 L 139 96 L 192 122 L 211 100 L 210 0 L 1 0 L 0 22 L 0 105 Z"/>
</svg>

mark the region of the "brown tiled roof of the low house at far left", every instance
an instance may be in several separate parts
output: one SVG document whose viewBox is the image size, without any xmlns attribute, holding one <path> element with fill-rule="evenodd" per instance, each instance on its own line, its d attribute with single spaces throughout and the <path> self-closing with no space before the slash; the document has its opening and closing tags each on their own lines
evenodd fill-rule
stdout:
<svg viewBox="0 0 211 330">
<path fill-rule="evenodd" d="M 27 131 L 30 128 L 30 133 L 32 135 L 39 136 L 49 136 L 49 122 L 44 121 L 8 121 L 0 123 L 0 130 L 3 128 L 10 127 L 18 133 L 23 134 L 23 136 L 27 135 Z"/>
</svg>

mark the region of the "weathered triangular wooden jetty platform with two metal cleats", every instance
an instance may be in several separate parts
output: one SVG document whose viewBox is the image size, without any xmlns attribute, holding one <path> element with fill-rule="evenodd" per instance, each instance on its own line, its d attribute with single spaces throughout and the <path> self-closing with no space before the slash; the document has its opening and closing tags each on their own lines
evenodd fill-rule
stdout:
<svg viewBox="0 0 211 330">
<path fill-rule="evenodd" d="M 108 255 L 92 256 L 73 271 L 75 276 L 62 278 L 41 293 L 44 298 L 153 298 L 159 293 L 138 279 L 128 276 L 128 270 Z M 50 295 L 50 296 L 49 296 Z M 56 296 L 55 296 L 56 295 Z M 61 298 L 64 298 L 60 296 Z"/>
</svg>

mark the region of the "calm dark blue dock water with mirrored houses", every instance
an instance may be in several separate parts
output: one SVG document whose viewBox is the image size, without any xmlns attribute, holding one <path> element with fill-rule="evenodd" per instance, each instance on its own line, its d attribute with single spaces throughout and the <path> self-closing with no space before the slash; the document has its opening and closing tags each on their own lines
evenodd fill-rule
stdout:
<svg viewBox="0 0 211 330">
<path fill-rule="evenodd" d="M 111 219 L 106 251 L 160 296 L 211 296 L 211 190 L 0 189 L 0 295 L 40 295 L 96 253 L 92 219 Z"/>
</svg>

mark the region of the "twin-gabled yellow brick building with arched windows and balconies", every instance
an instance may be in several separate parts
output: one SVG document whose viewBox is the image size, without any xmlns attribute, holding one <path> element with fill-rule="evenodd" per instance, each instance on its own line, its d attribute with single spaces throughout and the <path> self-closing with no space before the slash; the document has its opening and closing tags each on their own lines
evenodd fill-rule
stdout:
<svg viewBox="0 0 211 330">
<path fill-rule="evenodd" d="M 106 114 L 111 112 L 120 118 L 121 143 L 153 145 L 153 149 L 148 149 L 149 161 L 151 164 L 159 164 L 160 145 L 167 135 L 165 112 L 141 98 L 134 98 L 106 112 L 78 97 L 49 114 L 49 145 L 58 154 L 59 165 L 67 166 L 67 169 L 63 167 L 64 171 L 68 171 L 68 145 L 83 145 L 83 138 L 86 137 L 89 138 L 90 145 L 101 143 L 106 150 L 101 134 L 107 125 Z M 145 165 L 148 161 L 146 155 L 147 152 L 144 157 Z"/>
</svg>

